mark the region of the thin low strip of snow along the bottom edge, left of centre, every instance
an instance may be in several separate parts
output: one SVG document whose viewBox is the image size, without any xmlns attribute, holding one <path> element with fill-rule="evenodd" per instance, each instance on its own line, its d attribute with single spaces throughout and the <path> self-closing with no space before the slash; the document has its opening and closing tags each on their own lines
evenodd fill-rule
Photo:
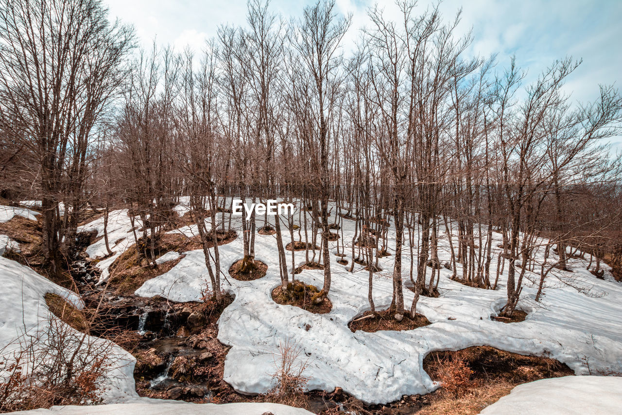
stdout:
<svg viewBox="0 0 622 415">
<path fill-rule="evenodd" d="M 309 411 L 291 406 L 272 403 L 234 403 L 234 404 L 193 404 L 183 401 L 164 401 L 160 399 L 139 399 L 137 402 L 95 406 L 53 406 L 51 409 L 23 411 L 19 414 L 63 414 L 63 415 L 169 415 L 183 413 L 187 415 L 261 415 L 271 412 L 274 415 L 310 415 Z"/>
</svg>

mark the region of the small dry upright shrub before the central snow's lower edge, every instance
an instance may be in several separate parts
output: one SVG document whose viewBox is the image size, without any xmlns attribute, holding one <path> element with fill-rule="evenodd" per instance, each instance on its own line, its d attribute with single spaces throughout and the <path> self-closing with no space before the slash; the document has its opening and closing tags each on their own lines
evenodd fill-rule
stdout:
<svg viewBox="0 0 622 415">
<path fill-rule="evenodd" d="M 267 402 L 306 408 L 308 398 L 304 389 L 309 377 L 304 375 L 307 361 L 300 360 L 302 349 L 297 343 L 290 340 L 279 343 L 274 365 L 276 371 L 272 373 L 272 388 L 267 392 Z"/>
</svg>

